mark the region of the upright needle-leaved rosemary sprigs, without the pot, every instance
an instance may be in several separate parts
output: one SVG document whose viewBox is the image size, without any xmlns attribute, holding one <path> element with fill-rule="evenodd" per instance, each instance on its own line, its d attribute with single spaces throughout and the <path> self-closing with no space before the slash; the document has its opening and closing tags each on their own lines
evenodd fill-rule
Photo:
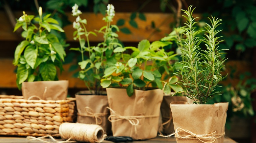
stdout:
<svg viewBox="0 0 256 143">
<path fill-rule="evenodd" d="M 195 9 L 195 8 L 194 8 Z M 181 49 L 181 57 L 183 61 L 182 68 L 176 74 L 181 77 L 181 83 L 185 87 L 187 97 L 192 99 L 195 104 L 206 104 L 213 95 L 219 92 L 215 90 L 220 82 L 225 77 L 222 76 L 221 69 L 224 67 L 224 61 L 221 59 L 224 54 L 218 49 L 218 44 L 223 40 L 218 40 L 217 33 L 222 30 L 216 30 L 220 25 L 221 19 L 209 18 L 211 24 L 206 24 L 205 37 L 200 39 L 197 37 L 200 30 L 195 29 L 196 18 L 193 18 L 194 11 L 192 6 L 188 10 L 182 10 L 186 15 L 183 15 L 187 21 L 184 23 L 188 28 L 184 28 L 186 39 L 181 39 L 183 48 Z M 200 43 L 204 42 L 205 50 L 201 49 Z"/>
</svg>

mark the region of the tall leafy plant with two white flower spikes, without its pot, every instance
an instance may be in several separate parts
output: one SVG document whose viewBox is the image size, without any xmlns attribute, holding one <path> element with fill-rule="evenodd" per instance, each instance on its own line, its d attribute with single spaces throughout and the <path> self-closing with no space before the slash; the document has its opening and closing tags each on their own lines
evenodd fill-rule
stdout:
<svg viewBox="0 0 256 143">
<path fill-rule="evenodd" d="M 72 7 L 72 15 L 76 17 L 73 23 L 74 40 L 79 40 L 80 47 L 71 48 L 70 50 L 79 51 L 81 53 L 82 61 L 78 62 L 81 70 L 79 71 L 78 78 L 83 80 L 86 87 L 91 94 L 101 95 L 103 88 L 100 86 L 100 79 L 103 76 L 106 68 L 110 65 L 114 65 L 117 62 L 114 53 L 116 48 L 118 50 L 118 35 L 113 32 L 115 28 L 119 31 L 116 25 L 112 25 L 111 22 L 115 16 L 115 8 L 113 5 L 108 5 L 106 10 L 107 15 L 103 18 L 106 25 L 96 30 L 97 33 L 102 34 L 104 41 L 98 43 L 96 46 L 91 46 L 89 36 L 92 34 L 97 36 L 93 31 L 87 31 L 86 19 L 81 19 L 80 14 L 82 12 L 75 4 Z M 117 43 L 117 44 L 115 44 Z M 87 54 L 87 56 L 85 56 Z"/>
</svg>

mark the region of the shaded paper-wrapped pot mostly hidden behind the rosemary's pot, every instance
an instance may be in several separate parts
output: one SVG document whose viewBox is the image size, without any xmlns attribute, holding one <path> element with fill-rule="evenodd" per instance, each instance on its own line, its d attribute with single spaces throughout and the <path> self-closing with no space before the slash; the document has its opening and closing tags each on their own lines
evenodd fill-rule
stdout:
<svg viewBox="0 0 256 143">
<path fill-rule="evenodd" d="M 162 115 L 162 123 L 165 123 L 167 121 L 170 121 L 166 123 L 165 125 L 162 125 L 162 133 L 164 135 L 166 134 L 172 134 L 175 132 L 174 126 L 173 126 L 173 120 L 172 120 L 172 112 L 170 109 L 170 103 L 172 102 L 178 102 L 178 101 L 185 101 L 187 102 L 190 100 L 186 96 L 163 96 L 163 102 L 161 103 L 161 115 Z"/>
</svg>

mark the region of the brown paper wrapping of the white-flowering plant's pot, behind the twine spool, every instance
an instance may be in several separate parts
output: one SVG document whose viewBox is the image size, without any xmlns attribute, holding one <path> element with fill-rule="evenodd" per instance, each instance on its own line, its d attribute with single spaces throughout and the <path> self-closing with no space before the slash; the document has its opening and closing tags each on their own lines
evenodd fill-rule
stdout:
<svg viewBox="0 0 256 143">
<path fill-rule="evenodd" d="M 78 114 L 88 114 L 85 111 L 86 106 L 91 108 L 93 113 L 106 113 L 105 116 L 99 116 L 102 120 L 102 123 L 99 125 L 104 129 L 104 132 L 109 135 L 111 133 L 111 123 L 108 120 L 110 112 L 109 109 L 106 108 L 108 107 L 107 96 L 88 94 L 90 94 L 89 91 L 81 91 L 75 95 Z M 93 117 L 77 115 L 77 122 L 84 124 L 96 124 L 96 119 Z"/>
</svg>

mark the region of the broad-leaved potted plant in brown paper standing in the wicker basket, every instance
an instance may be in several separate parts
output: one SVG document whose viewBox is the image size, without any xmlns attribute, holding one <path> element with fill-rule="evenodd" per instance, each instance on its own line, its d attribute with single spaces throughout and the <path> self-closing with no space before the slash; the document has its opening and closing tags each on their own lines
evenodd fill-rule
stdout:
<svg viewBox="0 0 256 143">
<path fill-rule="evenodd" d="M 66 99 L 68 81 L 58 81 L 57 77 L 57 68 L 63 71 L 65 41 L 51 33 L 53 30 L 64 30 L 51 18 L 51 14 L 43 16 L 41 7 L 38 13 L 39 16 L 35 17 L 23 11 L 14 27 L 13 32 L 22 27 L 24 31 L 21 36 L 25 38 L 14 53 L 13 65 L 17 66 L 16 83 L 19 89 L 22 88 L 25 99 L 32 95 L 44 100 Z"/>
</svg>

